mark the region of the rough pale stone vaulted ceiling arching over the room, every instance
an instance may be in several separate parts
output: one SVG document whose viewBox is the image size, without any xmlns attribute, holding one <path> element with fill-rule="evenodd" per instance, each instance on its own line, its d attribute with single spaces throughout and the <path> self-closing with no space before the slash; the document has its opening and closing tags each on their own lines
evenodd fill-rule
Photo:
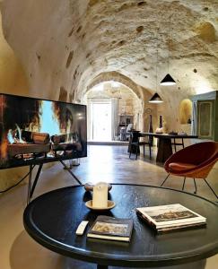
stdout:
<svg viewBox="0 0 218 269">
<path fill-rule="evenodd" d="M 33 96 L 58 99 L 62 87 L 79 101 L 110 72 L 158 91 L 171 107 L 178 96 L 218 89 L 217 0 L 7 0 L 1 11 Z M 177 85 L 156 87 L 168 55 Z"/>
</svg>

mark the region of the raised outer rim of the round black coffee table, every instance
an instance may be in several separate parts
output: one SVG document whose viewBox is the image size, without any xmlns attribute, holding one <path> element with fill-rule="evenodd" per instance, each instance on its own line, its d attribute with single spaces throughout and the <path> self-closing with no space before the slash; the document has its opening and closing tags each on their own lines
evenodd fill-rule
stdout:
<svg viewBox="0 0 218 269">
<path fill-rule="evenodd" d="M 185 193 L 187 195 L 193 195 L 196 196 L 200 199 L 203 199 L 211 204 L 214 204 L 215 206 L 218 206 L 218 204 L 215 204 L 213 201 L 210 201 L 206 199 L 205 197 L 199 196 L 199 195 L 194 195 L 188 192 L 183 192 L 177 189 L 169 188 L 169 187 L 158 187 L 158 186 L 152 186 L 152 185 L 143 185 L 143 184 L 131 184 L 131 183 L 110 183 L 111 185 L 120 185 L 120 186 L 142 186 L 142 187 L 157 187 L 161 189 L 167 189 L 167 190 L 172 190 L 172 191 L 177 191 L 179 193 Z M 63 188 L 58 188 L 58 189 L 65 189 L 65 188 L 74 188 L 74 187 L 83 187 L 81 185 L 76 185 L 76 186 L 71 186 L 71 187 L 63 187 Z M 56 192 L 56 190 L 52 190 L 48 193 L 45 193 L 43 195 L 48 195 L 50 193 Z M 182 264 L 187 264 L 187 263 L 193 263 L 201 259 L 208 258 L 210 256 L 214 256 L 215 254 L 218 253 L 218 244 L 213 244 L 210 245 L 209 249 L 205 251 L 204 254 L 195 254 L 195 255 L 190 255 L 190 256 L 182 256 L 182 257 L 170 257 L 170 258 L 157 258 L 156 260 L 149 258 L 149 256 L 142 256 L 142 259 L 139 260 L 138 257 L 137 259 L 126 259 L 125 256 L 123 259 L 120 257 L 116 258 L 115 256 L 109 256 L 109 255 L 104 255 L 103 253 L 95 253 L 95 252 L 89 252 L 89 253 L 84 253 L 83 250 L 79 248 L 72 247 L 74 249 L 74 252 L 70 252 L 69 255 L 69 246 L 65 244 L 61 244 L 62 247 L 60 247 L 60 243 L 57 242 L 55 239 L 49 238 L 47 235 L 43 235 L 44 238 L 42 239 L 41 235 L 42 232 L 38 230 L 38 228 L 35 226 L 34 231 L 32 231 L 29 227 L 28 224 L 31 224 L 32 222 L 29 220 L 27 217 L 29 208 L 31 207 L 31 204 L 34 203 L 34 201 L 37 201 L 41 196 L 35 198 L 32 200 L 30 204 L 27 205 L 27 207 L 24 210 L 23 213 L 23 225 L 25 230 L 28 232 L 28 234 L 31 236 L 32 239 L 35 239 L 40 245 L 43 247 L 47 247 L 48 249 L 57 252 L 58 254 L 61 254 L 63 256 L 70 256 L 75 259 L 83 260 L 86 262 L 94 263 L 94 264 L 99 264 L 99 265 L 114 265 L 114 266 L 126 266 L 126 267 L 135 267 L 135 263 L 137 267 L 145 267 L 145 266 L 150 266 L 150 267 L 157 267 L 157 266 L 168 266 L 168 265 L 182 265 Z M 200 247 L 199 247 L 200 248 Z M 125 259 L 124 259 L 125 258 Z"/>
</svg>

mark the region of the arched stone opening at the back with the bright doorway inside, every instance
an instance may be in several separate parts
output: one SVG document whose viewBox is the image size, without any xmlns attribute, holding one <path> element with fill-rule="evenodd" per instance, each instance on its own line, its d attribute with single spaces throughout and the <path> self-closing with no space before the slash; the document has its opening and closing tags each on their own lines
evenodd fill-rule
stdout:
<svg viewBox="0 0 218 269">
<path fill-rule="evenodd" d="M 88 141 L 119 141 L 128 124 L 139 129 L 142 101 L 120 82 L 100 82 L 86 92 Z"/>
</svg>

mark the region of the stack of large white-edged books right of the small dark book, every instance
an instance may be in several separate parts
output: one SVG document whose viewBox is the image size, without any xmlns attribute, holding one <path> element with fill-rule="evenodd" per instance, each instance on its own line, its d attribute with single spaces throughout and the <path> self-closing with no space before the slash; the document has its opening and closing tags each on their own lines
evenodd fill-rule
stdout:
<svg viewBox="0 0 218 269">
<path fill-rule="evenodd" d="M 199 227 L 206 218 L 181 204 L 136 208 L 137 215 L 158 232 Z"/>
</svg>

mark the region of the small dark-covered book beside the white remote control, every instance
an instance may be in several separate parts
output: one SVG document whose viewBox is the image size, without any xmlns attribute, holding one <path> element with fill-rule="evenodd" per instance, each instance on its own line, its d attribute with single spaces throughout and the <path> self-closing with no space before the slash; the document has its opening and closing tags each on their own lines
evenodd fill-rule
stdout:
<svg viewBox="0 0 218 269">
<path fill-rule="evenodd" d="M 133 220 L 98 216 L 87 233 L 88 238 L 109 239 L 129 242 Z"/>
</svg>

